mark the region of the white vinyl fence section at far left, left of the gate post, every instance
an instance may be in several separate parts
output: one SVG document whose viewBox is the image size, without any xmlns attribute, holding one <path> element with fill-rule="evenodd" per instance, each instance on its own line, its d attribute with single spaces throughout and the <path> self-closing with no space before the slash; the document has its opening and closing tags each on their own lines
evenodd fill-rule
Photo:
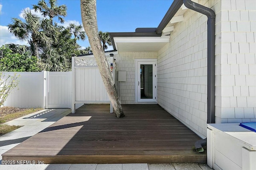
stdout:
<svg viewBox="0 0 256 170">
<path fill-rule="evenodd" d="M 14 72 L 4 72 L 14 75 Z M 18 86 L 12 90 L 4 106 L 40 108 L 44 102 L 44 73 L 16 72 Z"/>
</svg>

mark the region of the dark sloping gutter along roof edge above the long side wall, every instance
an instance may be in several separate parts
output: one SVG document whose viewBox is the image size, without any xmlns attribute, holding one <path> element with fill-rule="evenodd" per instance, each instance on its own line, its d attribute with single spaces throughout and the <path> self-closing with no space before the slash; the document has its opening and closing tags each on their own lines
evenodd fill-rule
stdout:
<svg viewBox="0 0 256 170">
<path fill-rule="evenodd" d="M 174 0 L 172 2 L 172 5 L 170 6 L 170 8 L 166 12 L 164 18 L 162 19 L 162 21 L 160 22 L 160 24 L 156 28 L 156 33 L 158 33 L 158 34 L 162 33 L 162 31 L 164 30 L 166 25 L 170 22 L 170 20 L 176 14 L 176 12 L 180 9 L 182 4 L 183 4 L 182 0 Z"/>
</svg>

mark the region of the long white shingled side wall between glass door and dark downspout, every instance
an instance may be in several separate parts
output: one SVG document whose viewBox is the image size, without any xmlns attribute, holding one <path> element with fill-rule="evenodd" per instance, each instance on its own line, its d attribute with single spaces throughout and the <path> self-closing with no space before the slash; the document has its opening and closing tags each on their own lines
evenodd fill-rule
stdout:
<svg viewBox="0 0 256 170">
<path fill-rule="evenodd" d="M 220 1 L 199 1 L 216 17 Z M 218 19 L 217 19 L 218 20 Z M 207 17 L 188 9 L 158 51 L 158 104 L 201 137 L 207 129 Z"/>
</svg>

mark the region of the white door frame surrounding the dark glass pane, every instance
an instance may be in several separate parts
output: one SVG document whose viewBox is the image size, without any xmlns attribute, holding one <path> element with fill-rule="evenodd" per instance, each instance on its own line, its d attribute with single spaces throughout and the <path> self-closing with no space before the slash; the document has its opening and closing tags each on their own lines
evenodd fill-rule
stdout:
<svg viewBox="0 0 256 170">
<path fill-rule="evenodd" d="M 155 64 L 155 68 L 154 68 L 154 64 L 153 64 L 153 99 L 150 101 L 146 100 L 140 100 L 138 94 L 138 66 L 140 63 L 145 63 L 147 64 L 147 62 L 154 62 Z M 154 74 L 155 73 L 155 74 Z M 154 76 L 155 75 L 155 76 Z M 154 86 L 156 86 L 156 88 L 154 88 Z M 157 102 L 157 59 L 135 59 L 135 103 L 141 103 L 141 102 Z"/>
</svg>

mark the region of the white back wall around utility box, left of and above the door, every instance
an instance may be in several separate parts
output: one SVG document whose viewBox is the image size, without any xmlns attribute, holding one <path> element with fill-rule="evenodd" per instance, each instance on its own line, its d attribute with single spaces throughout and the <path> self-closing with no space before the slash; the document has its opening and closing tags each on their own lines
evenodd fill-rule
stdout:
<svg viewBox="0 0 256 170">
<path fill-rule="evenodd" d="M 135 59 L 157 59 L 157 53 L 119 53 L 116 59 L 116 88 L 118 71 L 126 71 L 126 82 L 120 82 L 121 104 L 135 104 Z"/>
</svg>

